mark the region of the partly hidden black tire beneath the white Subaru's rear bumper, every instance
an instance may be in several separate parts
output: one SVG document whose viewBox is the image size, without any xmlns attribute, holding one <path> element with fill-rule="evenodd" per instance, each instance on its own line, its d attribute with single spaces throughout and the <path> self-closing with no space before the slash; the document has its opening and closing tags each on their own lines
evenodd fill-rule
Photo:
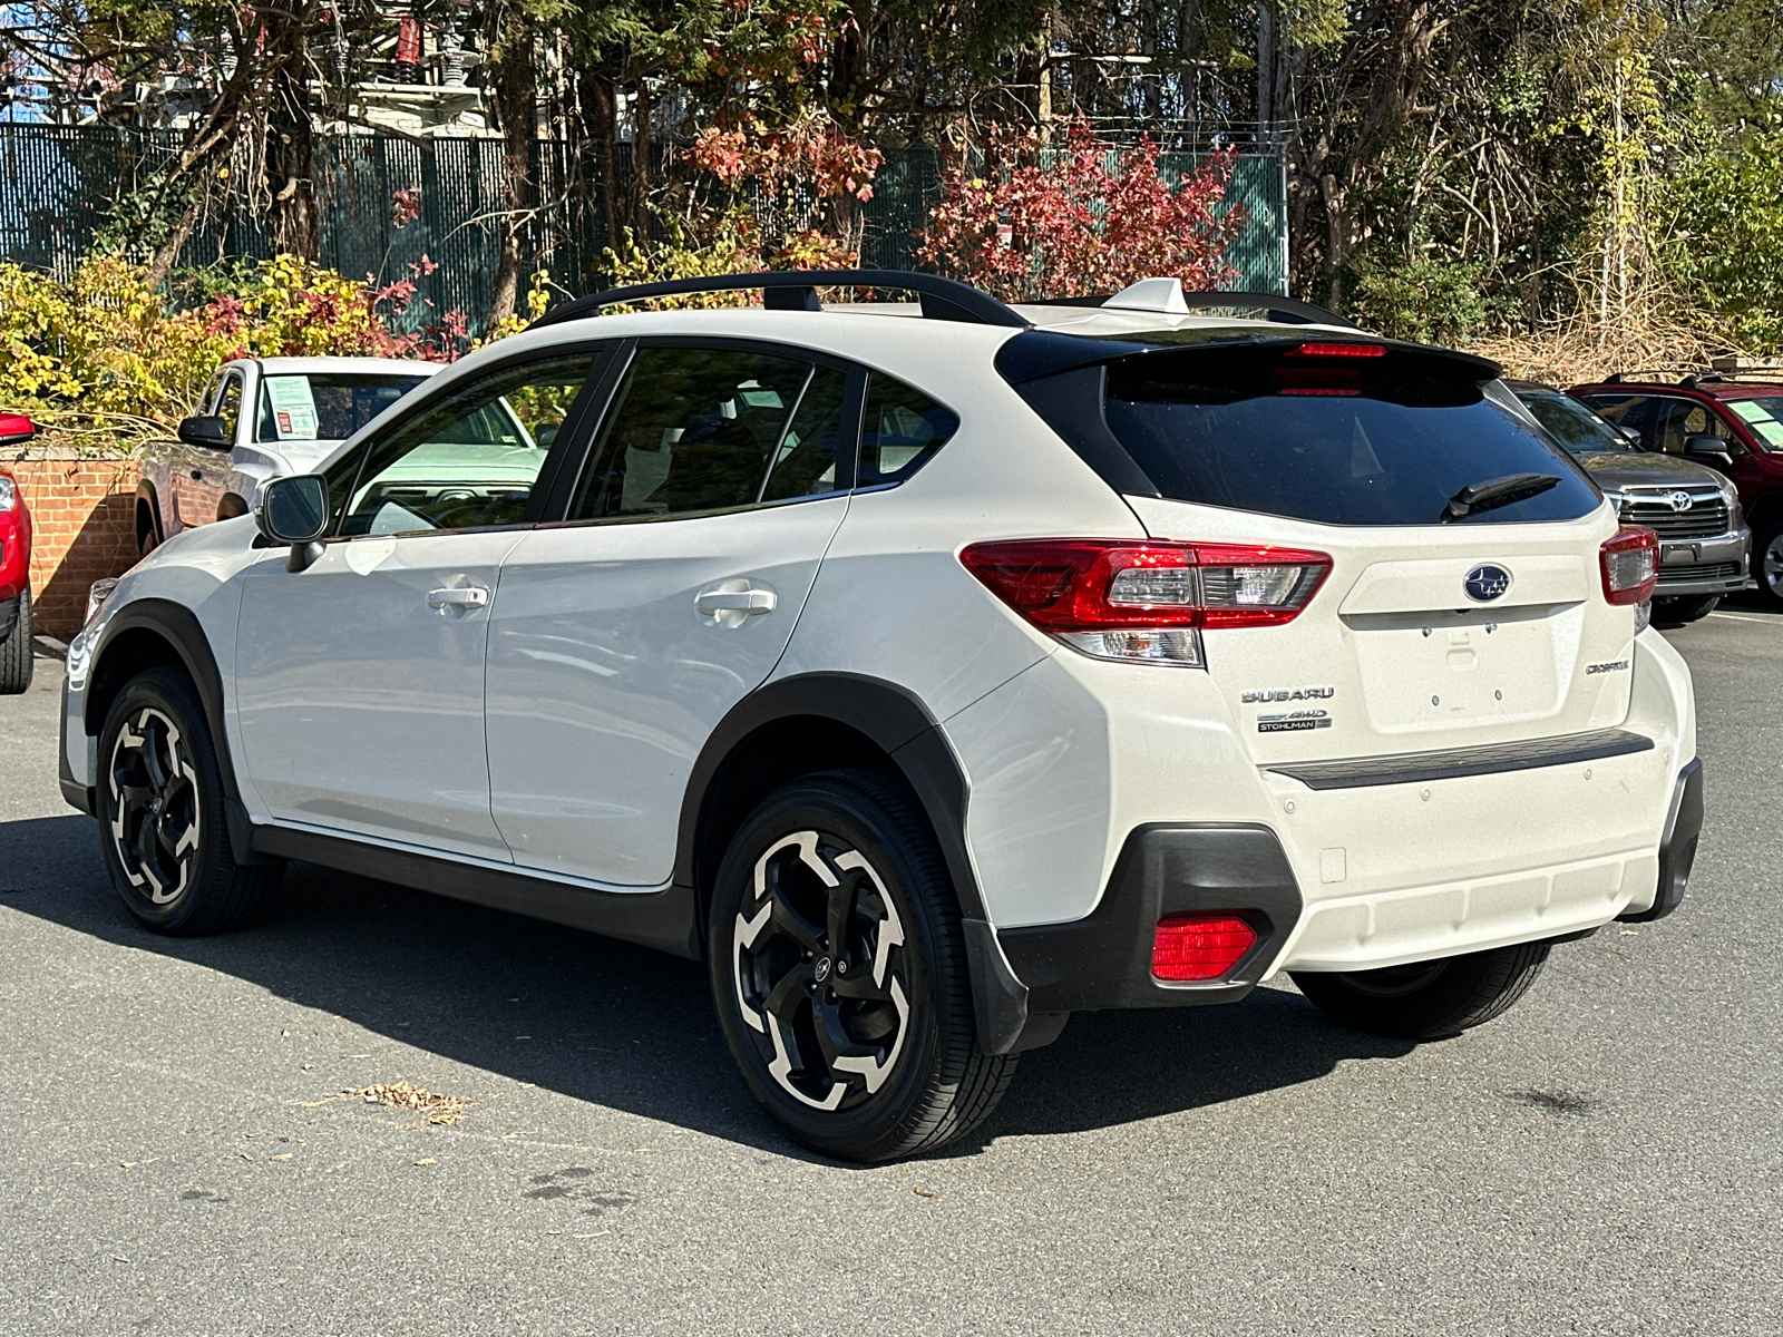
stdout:
<svg viewBox="0 0 1783 1337">
<path fill-rule="evenodd" d="M 1516 943 L 1385 970 L 1289 973 L 1339 1025 L 1396 1039 L 1442 1039 L 1507 1011 L 1535 982 L 1549 947 Z"/>
</svg>

